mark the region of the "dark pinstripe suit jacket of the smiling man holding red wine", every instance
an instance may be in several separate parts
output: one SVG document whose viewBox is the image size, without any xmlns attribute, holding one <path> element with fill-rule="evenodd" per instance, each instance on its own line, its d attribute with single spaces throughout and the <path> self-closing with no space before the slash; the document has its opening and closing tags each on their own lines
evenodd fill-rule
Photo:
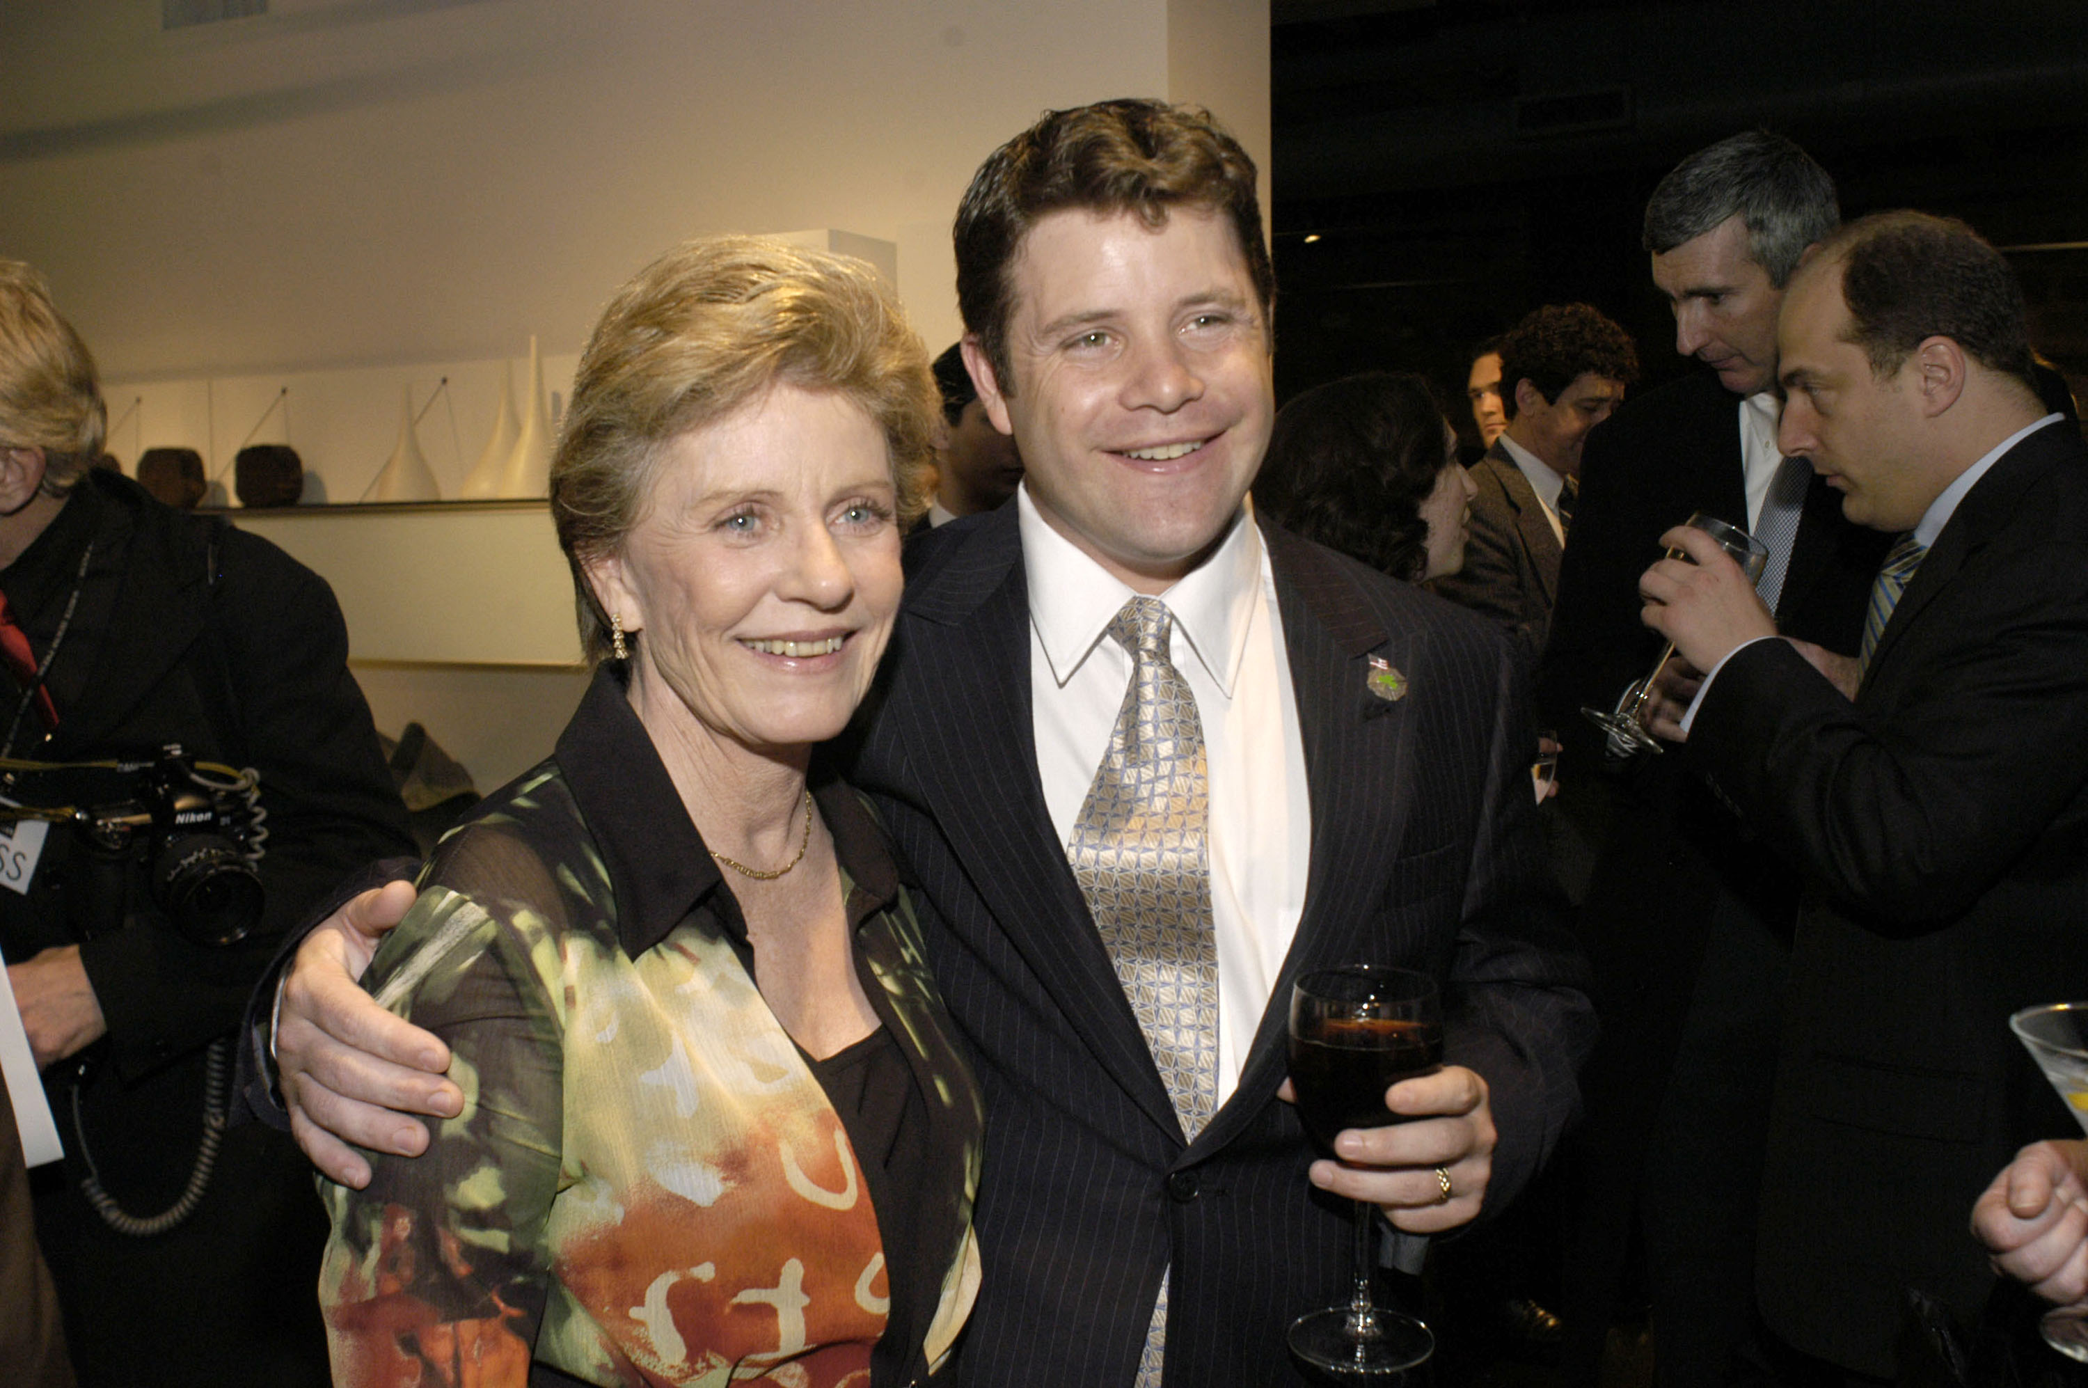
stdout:
<svg viewBox="0 0 2088 1388">
<path fill-rule="evenodd" d="M 1470 614 L 1263 528 L 1311 783 L 1297 943 L 1238 1092 L 1184 1148 L 1052 831 L 1029 716 L 1017 509 L 915 541 L 852 779 L 933 904 L 931 964 L 988 1102 L 986 1284 L 963 1384 L 1130 1384 L 1173 1267 L 1167 1382 L 1303 1382 L 1286 1323 L 1347 1296 L 1347 1215 L 1315 1196 L 1284 1077 L 1301 968 L 1384 960 L 1447 987 L 1449 1058 L 1493 1090 L 1505 1198 L 1576 1106 L 1581 962 L 1543 889 L 1535 737 L 1505 643 Z M 1366 657 L 1409 678 L 1370 697 Z"/>
</svg>

